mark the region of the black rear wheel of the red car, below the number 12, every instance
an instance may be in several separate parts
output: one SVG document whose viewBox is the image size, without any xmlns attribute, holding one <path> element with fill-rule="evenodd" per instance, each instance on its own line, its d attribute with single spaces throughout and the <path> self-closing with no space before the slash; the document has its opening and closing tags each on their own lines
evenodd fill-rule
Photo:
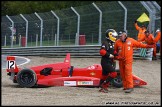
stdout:
<svg viewBox="0 0 162 107">
<path fill-rule="evenodd" d="M 23 69 L 17 74 L 17 82 L 21 87 L 33 87 L 37 82 L 36 73 L 30 69 Z"/>
</svg>

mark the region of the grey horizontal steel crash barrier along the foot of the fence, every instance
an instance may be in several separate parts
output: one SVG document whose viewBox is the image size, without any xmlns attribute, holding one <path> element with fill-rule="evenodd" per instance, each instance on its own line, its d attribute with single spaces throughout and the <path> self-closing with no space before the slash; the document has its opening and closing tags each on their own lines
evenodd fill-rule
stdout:
<svg viewBox="0 0 162 107">
<path fill-rule="evenodd" d="M 66 53 L 70 53 L 71 57 L 101 57 L 99 54 L 99 45 L 86 46 L 42 46 L 42 47 L 26 47 L 26 48 L 2 48 L 3 55 L 14 56 L 43 56 L 43 57 L 65 57 Z M 145 57 L 139 55 L 140 48 L 134 50 L 133 58 L 152 60 L 153 49 L 148 49 Z"/>
</svg>

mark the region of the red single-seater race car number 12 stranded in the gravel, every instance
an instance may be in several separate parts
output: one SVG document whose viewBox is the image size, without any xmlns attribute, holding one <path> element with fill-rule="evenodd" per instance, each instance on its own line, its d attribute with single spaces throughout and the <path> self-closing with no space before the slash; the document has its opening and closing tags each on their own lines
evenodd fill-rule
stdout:
<svg viewBox="0 0 162 107">
<path fill-rule="evenodd" d="M 13 83 L 21 87 L 35 86 L 93 86 L 98 87 L 102 76 L 100 64 L 93 64 L 85 68 L 71 66 L 70 53 L 67 53 L 63 62 L 34 66 L 30 68 L 18 68 L 14 56 L 7 57 L 7 74 Z M 111 85 L 122 87 L 120 71 L 112 80 Z M 147 85 L 139 77 L 133 75 L 134 86 Z"/>
</svg>

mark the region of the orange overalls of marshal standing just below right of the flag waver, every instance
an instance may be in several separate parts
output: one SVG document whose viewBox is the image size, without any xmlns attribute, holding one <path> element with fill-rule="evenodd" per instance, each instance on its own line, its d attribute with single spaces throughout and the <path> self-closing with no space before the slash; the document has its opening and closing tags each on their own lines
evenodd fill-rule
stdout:
<svg viewBox="0 0 162 107">
<path fill-rule="evenodd" d="M 149 36 L 145 36 L 143 40 L 148 44 L 148 45 L 154 45 L 153 47 L 153 56 L 156 57 L 156 43 L 154 41 L 154 36 L 152 34 L 149 34 Z"/>
</svg>

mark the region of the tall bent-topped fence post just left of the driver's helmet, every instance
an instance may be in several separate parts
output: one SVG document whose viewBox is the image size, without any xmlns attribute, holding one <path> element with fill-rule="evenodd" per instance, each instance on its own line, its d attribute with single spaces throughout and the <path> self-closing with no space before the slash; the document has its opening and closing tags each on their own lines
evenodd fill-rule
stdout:
<svg viewBox="0 0 162 107">
<path fill-rule="evenodd" d="M 98 44 L 101 45 L 102 11 L 97 7 L 97 5 L 95 3 L 92 3 L 92 4 L 100 13 Z"/>
</svg>

